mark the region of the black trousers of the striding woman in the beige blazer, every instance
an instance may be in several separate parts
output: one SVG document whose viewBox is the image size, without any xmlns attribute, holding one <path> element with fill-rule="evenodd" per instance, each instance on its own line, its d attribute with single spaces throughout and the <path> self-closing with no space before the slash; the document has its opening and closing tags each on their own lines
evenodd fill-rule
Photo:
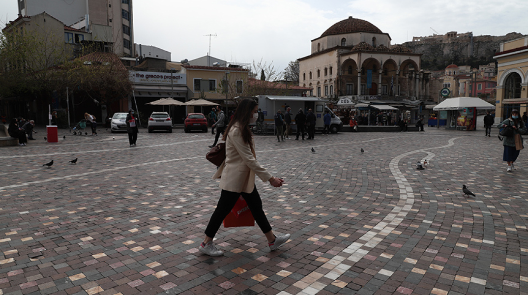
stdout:
<svg viewBox="0 0 528 295">
<path fill-rule="evenodd" d="M 216 232 L 218 232 L 218 229 L 220 229 L 220 225 L 224 221 L 225 216 L 228 216 L 229 212 L 234 207 L 234 204 L 237 203 L 237 200 L 240 195 L 242 195 L 242 197 L 248 203 L 249 210 L 251 211 L 253 218 L 255 218 L 255 221 L 259 225 L 262 233 L 267 233 L 271 231 L 271 225 L 269 225 L 268 218 L 262 210 L 262 200 L 260 199 L 259 192 L 257 192 L 257 187 L 255 186 L 253 192 L 249 194 L 234 193 L 222 189 L 222 193 L 220 194 L 220 199 L 218 200 L 216 209 L 214 210 L 213 215 L 211 215 L 209 224 L 205 229 L 205 235 L 209 237 L 214 237 L 216 235 Z"/>
</svg>

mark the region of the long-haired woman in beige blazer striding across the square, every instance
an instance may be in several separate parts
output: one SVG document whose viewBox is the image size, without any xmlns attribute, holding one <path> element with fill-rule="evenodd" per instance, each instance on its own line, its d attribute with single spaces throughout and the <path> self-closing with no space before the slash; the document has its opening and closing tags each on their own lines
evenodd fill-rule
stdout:
<svg viewBox="0 0 528 295">
<path fill-rule="evenodd" d="M 213 179 L 220 178 L 222 192 L 216 209 L 205 229 L 205 239 L 198 247 L 200 252 L 210 256 L 221 256 L 223 252 L 213 245 L 213 238 L 220 229 L 220 225 L 240 195 L 248 203 L 251 214 L 255 218 L 260 230 L 268 239 L 271 251 L 286 243 L 289 234 L 275 236 L 271 230 L 266 214 L 262 210 L 262 200 L 255 186 L 255 175 L 263 182 L 269 182 L 274 187 L 280 187 L 284 180 L 273 177 L 256 159 L 254 141 L 249 127 L 258 118 L 258 104 L 254 100 L 244 99 L 240 102 L 233 119 L 224 132 L 225 161 L 220 166 Z"/>
</svg>

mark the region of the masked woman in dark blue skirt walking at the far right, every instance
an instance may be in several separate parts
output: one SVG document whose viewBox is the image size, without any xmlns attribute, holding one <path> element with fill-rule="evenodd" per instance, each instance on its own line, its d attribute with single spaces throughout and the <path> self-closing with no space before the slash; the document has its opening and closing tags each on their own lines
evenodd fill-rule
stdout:
<svg viewBox="0 0 528 295">
<path fill-rule="evenodd" d="M 512 110 L 510 118 L 497 125 L 497 128 L 501 129 L 506 126 L 512 126 L 513 136 L 505 136 L 503 138 L 502 145 L 504 146 L 504 152 L 502 155 L 502 160 L 506 161 L 508 164 L 506 171 L 511 172 L 512 170 L 515 170 L 513 163 L 515 163 L 515 160 L 517 160 L 521 149 L 523 149 L 523 137 L 521 134 L 526 134 L 526 125 L 519 116 L 518 110 Z"/>
</svg>

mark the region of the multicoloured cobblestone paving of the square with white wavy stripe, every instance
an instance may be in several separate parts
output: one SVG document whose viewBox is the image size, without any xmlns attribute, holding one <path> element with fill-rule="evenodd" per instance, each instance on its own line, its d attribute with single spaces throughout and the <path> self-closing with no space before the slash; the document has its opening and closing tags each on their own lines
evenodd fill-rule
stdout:
<svg viewBox="0 0 528 295">
<path fill-rule="evenodd" d="M 507 173 L 482 133 L 257 136 L 291 239 L 270 253 L 258 226 L 221 227 L 219 258 L 196 250 L 220 194 L 210 133 L 39 133 L 0 149 L 0 295 L 528 294 L 528 152 Z"/>
</svg>

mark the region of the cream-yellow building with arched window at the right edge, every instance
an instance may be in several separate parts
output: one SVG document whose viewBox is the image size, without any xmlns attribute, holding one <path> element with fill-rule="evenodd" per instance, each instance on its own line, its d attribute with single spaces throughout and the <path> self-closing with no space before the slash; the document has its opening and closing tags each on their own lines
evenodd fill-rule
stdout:
<svg viewBox="0 0 528 295">
<path fill-rule="evenodd" d="M 497 101 L 495 123 L 511 115 L 528 111 L 528 36 L 503 42 L 497 60 Z"/>
</svg>

